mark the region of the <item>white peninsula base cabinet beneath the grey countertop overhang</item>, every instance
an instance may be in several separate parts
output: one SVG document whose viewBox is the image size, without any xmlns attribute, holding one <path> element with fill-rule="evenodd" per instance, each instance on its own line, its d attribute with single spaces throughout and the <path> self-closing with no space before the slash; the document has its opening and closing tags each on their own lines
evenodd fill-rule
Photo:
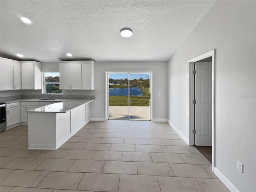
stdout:
<svg viewBox="0 0 256 192">
<path fill-rule="evenodd" d="M 86 106 L 90 109 L 88 103 L 66 113 L 28 112 L 28 149 L 58 149 L 90 121 Z"/>
</svg>

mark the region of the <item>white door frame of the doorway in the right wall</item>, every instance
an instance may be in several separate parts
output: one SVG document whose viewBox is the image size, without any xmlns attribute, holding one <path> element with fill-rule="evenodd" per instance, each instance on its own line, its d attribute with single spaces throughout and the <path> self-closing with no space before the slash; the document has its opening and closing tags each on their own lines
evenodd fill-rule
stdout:
<svg viewBox="0 0 256 192">
<path fill-rule="evenodd" d="M 215 166 L 215 50 L 208 51 L 188 60 L 188 144 L 194 145 L 194 62 L 212 57 L 212 172 Z"/>
</svg>

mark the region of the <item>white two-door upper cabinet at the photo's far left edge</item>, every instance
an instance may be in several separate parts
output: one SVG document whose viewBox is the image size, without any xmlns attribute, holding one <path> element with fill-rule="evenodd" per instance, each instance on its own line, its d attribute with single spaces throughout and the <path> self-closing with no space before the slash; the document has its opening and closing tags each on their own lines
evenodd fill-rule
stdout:
<svg viewBox="0 0 256 192">
<path fill-rule="evenodd" d="M 0 59 L 0 90 L 21 89 L 21 64 L 19 61 Z"/>
</svg>

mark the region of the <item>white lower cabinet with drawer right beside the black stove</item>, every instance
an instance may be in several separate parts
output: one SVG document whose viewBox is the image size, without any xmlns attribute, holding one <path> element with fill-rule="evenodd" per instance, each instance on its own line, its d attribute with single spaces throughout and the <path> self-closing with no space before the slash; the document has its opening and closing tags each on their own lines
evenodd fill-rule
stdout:
<svg viewBox="0 0 256 192">
<path fill-rule="evenodd" d="M 10 103 L 6 105 L 7 127 L 20 123 L 20 103 Z"/>
</svg>

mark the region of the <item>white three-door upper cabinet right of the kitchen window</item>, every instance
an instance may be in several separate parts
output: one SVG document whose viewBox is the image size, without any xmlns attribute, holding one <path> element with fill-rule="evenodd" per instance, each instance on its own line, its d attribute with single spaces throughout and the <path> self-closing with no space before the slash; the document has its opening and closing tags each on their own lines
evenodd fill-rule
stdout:
<svg viewBox="0 0 256 192">
<path fill-rule="evenodd" d="M 60 63 L 60 89 L 93 90 L 94 61 Z"/>
</svg>

